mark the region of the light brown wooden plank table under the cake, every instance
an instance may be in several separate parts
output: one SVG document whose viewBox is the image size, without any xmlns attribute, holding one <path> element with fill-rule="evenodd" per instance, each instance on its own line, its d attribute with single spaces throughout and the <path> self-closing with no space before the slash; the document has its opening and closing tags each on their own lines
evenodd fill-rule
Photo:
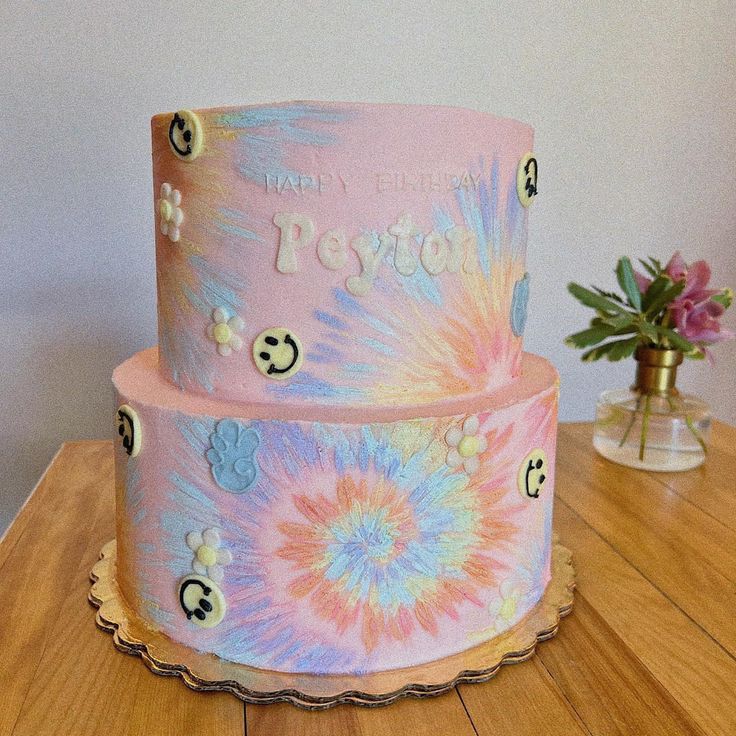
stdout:
<svg viewBox="0 0 736 736">
<path fill-rule="evenodd" d="M 0 734 L 736 734 L 736 429 L 666 475 L 562 425 L 557 467 L 578 590 L 554 639 L 483 685 L 309 713 L 195 693 L 115 651 L 87 603 L 114 535 L 112 447 L 66 444 L 0 542 Z"/>
</svg>

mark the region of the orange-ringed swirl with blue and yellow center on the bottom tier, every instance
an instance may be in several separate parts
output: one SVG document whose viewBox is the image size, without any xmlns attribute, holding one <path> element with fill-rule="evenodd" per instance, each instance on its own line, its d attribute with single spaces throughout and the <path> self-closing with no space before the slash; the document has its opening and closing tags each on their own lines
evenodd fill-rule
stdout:
<svg viewBox="0 0 736 736">
<path fill-rule="evenodd" d="M 481 606 L 503 567 L 494 553 L 518 531 L 497 499 L 442 468 L 409 488 L 347 475 L 329 495 L 292 501 L 304 523 L 279 525 L 288 541 L 277 551 L 298 573 L 289 591 L 340 634 L 359 628 L 367 652 Z"/>
</svg>

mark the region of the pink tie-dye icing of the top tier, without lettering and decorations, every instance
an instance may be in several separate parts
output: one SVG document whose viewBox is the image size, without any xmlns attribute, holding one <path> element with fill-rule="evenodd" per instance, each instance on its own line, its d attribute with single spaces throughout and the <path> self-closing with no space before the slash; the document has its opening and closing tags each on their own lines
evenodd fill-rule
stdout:
<svg viewBox="0 0 736 736">
<path fill-rule="evenodd" d="M 449 122 L 464 118 L 441 108 L 290 103 L 200 115 L 205 146 L 191 162 L 169 151 L 168 118 L 153 124 L 154 190 L 167 182 L 183 194 L 179 241 L 157 238 L 161 365 L 174 383 L 233 401 L 427 404 L 518 375 L 522 338 L 512 330 L 511 302 L 525 273 L 527 210 L 515 166 L 531 145 L 527 126 L 474 113 L 472 141 L 458 137 L 450 146 Z M 401 128 L 424 116 L 423 137 L 402 148 Z M 474 184 L 376 197 L 377 172 L 397 160 L 407 169 L 467 172 Z M 331 182 L 325 190 L 320 176 Z M 287 180 L 298 185 L 272 184 Z M 314 221 L 297 273 L 276 270 L 276 212 Z M 368 235 L 377 248 L 406 212 L 423 234 L 471 232 L 474 268 L 432 276 L 419 265 L 404 276 L 388 252 L 370 292 L 356 297 L 346 279 L 361 266 L 349 246 L 342 271 L 319 263 L 317 239 L 328 228 L 342 229 L 348 242 Z M 217 307 L 242 317 L 246 346 L 264 329 L 293 330 L 306 351 L 300 372 L 269 381 L 249 350 L 215 354 L 205 331 Z"/>
</svg>

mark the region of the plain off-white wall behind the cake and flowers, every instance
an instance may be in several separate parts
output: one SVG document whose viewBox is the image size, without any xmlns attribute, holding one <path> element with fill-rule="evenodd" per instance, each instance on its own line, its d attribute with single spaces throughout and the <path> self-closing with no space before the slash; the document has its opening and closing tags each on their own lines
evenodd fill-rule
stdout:
<svg viewBox="0 0 736 736">
<path fill-rule="evenodd" d="M 526 345 L 560 369 L 562 418 L 589 419 L 633 367 L 563 347 L 587 319 L 568 280 L 681 247 L 736 286 L 734 38 L 732 0 L 1 2 L 0 529 L 62 441 L 110 435 L 110 373 L 155 342 L 153 113 L 307 98 L 531 122 Z M 736 346 L 717 354 L 681 384 L 736 422 Z"/>
</svg>

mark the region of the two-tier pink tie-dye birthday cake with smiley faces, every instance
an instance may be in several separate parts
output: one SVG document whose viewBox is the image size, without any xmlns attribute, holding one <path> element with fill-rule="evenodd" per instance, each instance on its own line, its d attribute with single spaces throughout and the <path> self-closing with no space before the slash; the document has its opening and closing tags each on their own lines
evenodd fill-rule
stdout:
<svg viewBox="0 0 736 736">
<path fill-rule="evenodd" d="M 312 675 L 516 625 L 550 580 L 558 395 L 522 352 L 532 130 L 289 102 L 152 131 L 159 346 L 114 374 L 126 605 Z"/>
</svg>

